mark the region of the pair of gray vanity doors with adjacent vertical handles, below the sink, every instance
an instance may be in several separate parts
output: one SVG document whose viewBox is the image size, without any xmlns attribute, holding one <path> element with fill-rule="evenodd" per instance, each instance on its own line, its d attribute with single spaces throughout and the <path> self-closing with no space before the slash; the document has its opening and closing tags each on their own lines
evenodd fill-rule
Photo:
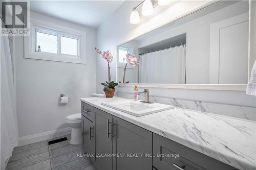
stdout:
<svg viewBox="0 0 256 170">
<path fill-rule="evenodd" d="M 95 112 L 95 166 L 101 170 L 152 169 L 151 157 L 101 157 L 98 154 L 152 154 L 152 132 L 99 109 Z"/>
</svg>

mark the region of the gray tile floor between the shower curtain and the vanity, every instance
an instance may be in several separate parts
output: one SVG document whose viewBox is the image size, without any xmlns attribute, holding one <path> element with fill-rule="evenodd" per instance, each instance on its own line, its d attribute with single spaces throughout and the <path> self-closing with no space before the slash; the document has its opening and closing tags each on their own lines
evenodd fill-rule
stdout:
<svg viewBox="0 0 256 170">
<path fill-rule="evenodd" d="M 48 145 L 48 141 L 62 137 L 68 140 Z M 14 148 L 6 170 L 96 170 L 88 158 L 77 157 L 82 153 L 81 144 L 70 144 L 70 135 L 58 138 Z"/>
</svg>

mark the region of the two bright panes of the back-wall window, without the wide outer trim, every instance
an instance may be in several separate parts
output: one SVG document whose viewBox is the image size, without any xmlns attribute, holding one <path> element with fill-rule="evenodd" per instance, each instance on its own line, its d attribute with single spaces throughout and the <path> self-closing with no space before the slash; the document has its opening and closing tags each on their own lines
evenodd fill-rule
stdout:
<svg viewBox="0 0 256 170">
<path fill-rule="evenodd" d="M 79 37 L 36 29 L 35 42 L 37 53 L 53 53 L 59 57 L 79 57 Z"/>
</svg>

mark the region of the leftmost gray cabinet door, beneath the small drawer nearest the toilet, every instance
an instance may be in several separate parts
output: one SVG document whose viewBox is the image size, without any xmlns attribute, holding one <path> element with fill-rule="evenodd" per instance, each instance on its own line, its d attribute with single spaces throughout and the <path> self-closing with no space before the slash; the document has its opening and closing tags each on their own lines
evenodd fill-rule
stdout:
<svg viewBox="0 0 256 170">
<path fill-rule="evenodd" d="M 82 116 L 83 137 L 82 146 L 85 153 L 90 154 L 90 159 L 94 162 L 95 140 L 94 123 L 88 118 Z"/>
</svg>

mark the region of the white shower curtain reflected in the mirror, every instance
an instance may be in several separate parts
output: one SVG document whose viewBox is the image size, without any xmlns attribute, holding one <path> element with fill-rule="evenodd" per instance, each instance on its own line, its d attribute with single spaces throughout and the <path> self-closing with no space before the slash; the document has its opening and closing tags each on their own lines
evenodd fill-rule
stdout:
<svg viewBox="0 0 256 170">
<path fill-rule="evenodd" d="M 141 55 L 139 83 L 185 83 L 186 44 Z"/>
</svg>

